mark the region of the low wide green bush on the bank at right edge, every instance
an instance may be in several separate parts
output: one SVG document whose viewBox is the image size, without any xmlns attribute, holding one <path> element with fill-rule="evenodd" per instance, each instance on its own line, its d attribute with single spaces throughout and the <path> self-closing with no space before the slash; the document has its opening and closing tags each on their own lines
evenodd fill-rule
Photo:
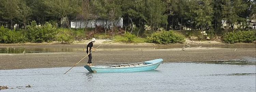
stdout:
<svg viewBox="0 0 256 92">
<path fill-rule="evenodd" d="M 224 42 L 226 43 L 252 43 L 256 40 L 255 31 L 237 31 L 237 32 L 228 32 L 224 35 Z"/>
</svg>

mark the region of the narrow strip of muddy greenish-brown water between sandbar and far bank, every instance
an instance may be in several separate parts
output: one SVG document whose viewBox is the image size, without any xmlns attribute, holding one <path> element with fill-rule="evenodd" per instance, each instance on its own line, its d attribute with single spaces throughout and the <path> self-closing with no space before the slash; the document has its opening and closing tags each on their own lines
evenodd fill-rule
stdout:
<svg viewBox="0 0 256 92">
<path fill-rule="evenodd" d="M 98 45 L 96 45 L 98 46 Z M 171 49 L 171 48 L 186 48 L 184 44 L 172 44 L 172 45 L 102 45 L 98 50 L 114 51 L 114 50 L 149 50 L 149 49 Z M 207 48 L 229 48 L 229 49 L 255 49 L 254 44 L 241 44 L 241 45 L 190 45 L 190 47 L 207 47 Z M 188 47 L 188 48 L 190 48 Z M 0 53 L 41 53 L 41 52 L 82 52 L 86 51 L 86 47 L 79 46 L 67 46 L 56 45 L 52 47 L 37 47 L 37 46 L 0 46 Z"/>
</svg>

